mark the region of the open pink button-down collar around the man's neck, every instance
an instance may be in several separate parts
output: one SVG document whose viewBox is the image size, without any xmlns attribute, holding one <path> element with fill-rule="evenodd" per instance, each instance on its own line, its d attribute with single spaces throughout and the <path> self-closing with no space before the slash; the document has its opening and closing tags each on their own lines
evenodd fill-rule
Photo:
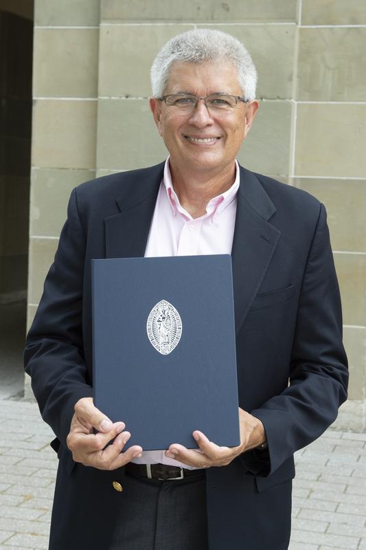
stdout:
<svg viewBox="0 0 366 550">
<path fill-rule="evenodd" d="M 235 167 L 236 167 L 236 177 L 235 181 L 233 182 L 233 185 L 227 189 L 225 192 L 220 193 L 220 195 L 217 195 L 216 197 L 212 198 L 206 206 L 206 214 L 204 214 L 203 217 L 212 216 L 212 219 L 214 217 L 218 217 L 224 210 L 229 206 L 229 204 L 232 203 L 234 199 L 236 199 L 236 195 L 238 193 L 238 188 L 240 184 L 240 170 L 239 170 L 239 164 L 238 161 L 235 161 Z M 181 206 L 181 203 L 179 202 L 178 195 L 176 195 L 176 192 L 174 191 L 173 184 L 172 184 L 172 176 L 170 174 L 170 168 L 169 168 L 169 157 L 165 161 L 164 166 L 164 175 L 163 175 L 163 183 L 165 186 L 166 193 L 168 195 L 168 199 L 170 202 L 170 206 L 172 208 L 172 214 L 173 216 L 176 216 L 177 212 L 180 212 L 183 214 L 183 216 L 187 219 L 192 219 L 192 216 L 188 214 L 187 210 Z"/>
</svg>

